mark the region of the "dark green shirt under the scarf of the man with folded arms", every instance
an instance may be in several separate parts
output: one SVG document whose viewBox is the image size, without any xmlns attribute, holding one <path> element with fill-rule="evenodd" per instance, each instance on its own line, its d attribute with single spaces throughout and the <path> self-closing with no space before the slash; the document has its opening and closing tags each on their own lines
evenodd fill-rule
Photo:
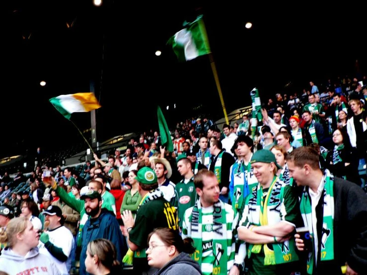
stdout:
<svg viewBox="0 0 367 275">
<path fill-rule="evenodd" d="M 268 189 L 263 190 L 263 203 L 265 203 L 267 191 Z M 251 194 L 249 196 L 251 196 Z M 295 188 L 289 185 L 285 186 L 283 198 L 283 202 L 280 206 L 278 206 L 279 209 L 282 208 L 282 211 L 279 213 L 280 221 L 285 220 L 293 223 L 295 227 L 302 227 L 303 220 L 300 213 L 298 196 L 296 194 Z M 248 223 L 249 220 L 247 216 L 245 221 L 241 225 L 246 226 Z M 272 249 L 271 244 L 269 245 L 269 247 Z M 262 247 L 260 253 L 251 253 L 250 259 L 248 259 L 248 262 L 246 262 L 246 266 L 249 267 L 248 275 L 282 275 L 288 273 L 288 270 L 290 270 L 288 274 L 291 274 L 292 270 L 296 271 L 294 269 L 296 269 L 297 265 L 299 265 L 298 262 L 291 262 L 281 265 L 264 266 L 264 258 L 264 247 Z"/>
</svg>

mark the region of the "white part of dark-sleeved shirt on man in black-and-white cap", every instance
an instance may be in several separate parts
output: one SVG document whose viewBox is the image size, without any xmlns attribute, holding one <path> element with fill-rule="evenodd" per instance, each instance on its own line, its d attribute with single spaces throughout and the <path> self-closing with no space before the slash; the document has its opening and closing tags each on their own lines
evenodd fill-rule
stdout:
<svg viewBox="0 0 367 275">
<path fill-rule="evenodd" d="M 56 259 L 50 254 L 50 252 L 45 247 L 45 244 L 41 241 L 38 243 L 39 252 L 41 254 L 47 255 L 49 259 L 55 263 L 56 267 L 62 275 L 69 275 L 67 266 L 71 266 L 70 264 L 68 265 L 68 263 L 71 263 L 72 261 L 70 253 L 74 246 L 74 238 L 72 232 L 65 226 L 61 226 L 57 229 L 47 231 L 46 233 L 49 235 L 49 241 L 56 247 L 61 248 L 63 250 L 63 253 L 68 256 L 68 260 L 66 262 L 61 262 Z"/>
</svg>

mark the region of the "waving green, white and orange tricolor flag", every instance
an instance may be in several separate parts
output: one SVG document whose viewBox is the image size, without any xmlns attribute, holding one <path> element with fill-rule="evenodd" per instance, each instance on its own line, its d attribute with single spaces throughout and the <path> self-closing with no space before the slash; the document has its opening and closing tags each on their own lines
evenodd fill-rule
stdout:
<svg viewBox="0 0 367 275">
<path fill-rule="evenodd" d="M 101 107 L 94 93 L 65 94 L 53 97 L 50 102 L 67 119 L 70 120 L 73 113 L 89 112 Z"/>
</svg>

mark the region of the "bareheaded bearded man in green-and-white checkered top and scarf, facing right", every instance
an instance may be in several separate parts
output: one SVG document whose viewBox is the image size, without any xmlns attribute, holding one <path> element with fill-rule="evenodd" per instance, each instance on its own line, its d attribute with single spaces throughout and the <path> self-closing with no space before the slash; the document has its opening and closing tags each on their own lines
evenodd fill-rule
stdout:
<svg viewBox="0 0 367 275">
<path fill-rule="evenodd" d="M 194 184 L 200 198 L 185 211 L 182 238 L 194 240 L 196 251 L 192 258 L 200 265 L 203 275 L 238 274 L 244 256 L 236 257 L 235 261 L 237 222 L 232 206 L 220 201 L 218 179 L 212 171 L 200 170 Z"/>
</svg>

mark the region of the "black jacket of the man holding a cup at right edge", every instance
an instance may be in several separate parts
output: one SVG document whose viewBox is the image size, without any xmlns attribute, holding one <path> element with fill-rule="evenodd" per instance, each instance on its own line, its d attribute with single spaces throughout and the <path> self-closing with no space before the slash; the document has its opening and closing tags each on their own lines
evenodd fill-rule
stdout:
<svg viewBox="0 0 367 275">
<path fill-rule="evenodd" d="M 367 274 L 367 195 L 358 185 L 334 178 L 334 260 L 320 261 L 324 196 L 316 206 L 318 260 L 313 275 L 341 275 L 347 262 Z"/>
</svg>

